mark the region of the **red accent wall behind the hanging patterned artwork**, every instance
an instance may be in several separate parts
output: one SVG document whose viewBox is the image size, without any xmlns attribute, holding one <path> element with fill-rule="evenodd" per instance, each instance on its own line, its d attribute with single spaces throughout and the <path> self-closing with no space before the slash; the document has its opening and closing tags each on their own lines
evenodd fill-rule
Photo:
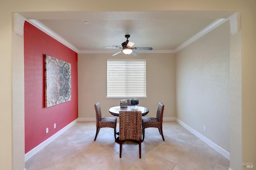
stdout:
<svg viewBox="0 0 256 170">
<path fill-rule="evenodd" d="M 71 101 L 45 107 L 44 54 L 71 63 Z M 25 154 L 78 118 L 77 77 L 77 53 L 25 22 Z"/>
</svg>

